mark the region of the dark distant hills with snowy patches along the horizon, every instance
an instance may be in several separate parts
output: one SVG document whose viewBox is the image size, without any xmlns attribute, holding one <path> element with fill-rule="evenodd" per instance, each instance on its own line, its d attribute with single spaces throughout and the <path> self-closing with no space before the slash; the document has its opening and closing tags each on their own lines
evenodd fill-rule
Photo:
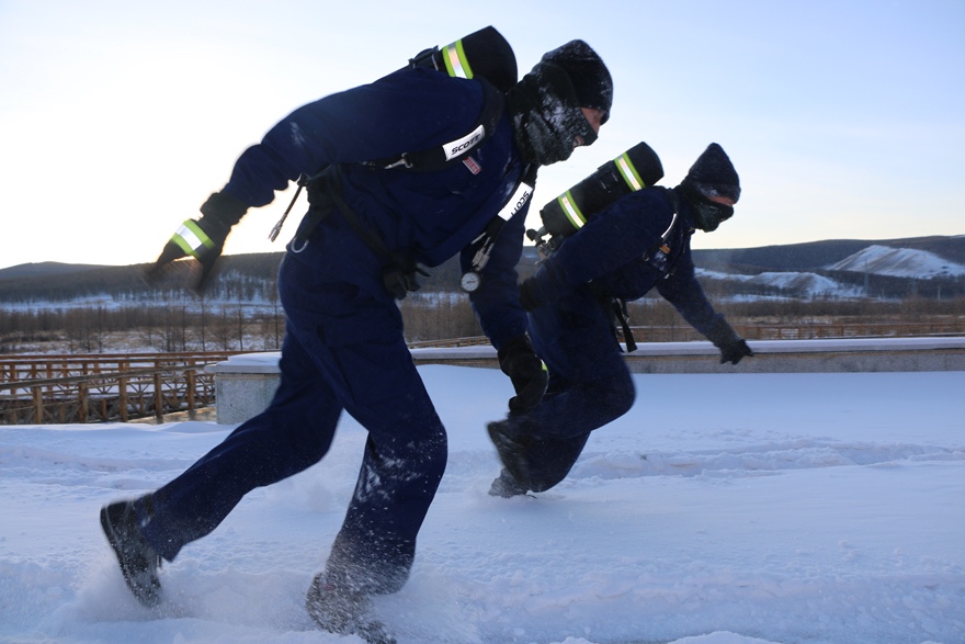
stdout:
<svg viewBox="0 0 965 644">
<path fill-rule="evenodd" d="M 222 258 L 206 298 L 251 302 L 275 298 L 279 263 L 284 253 Z M 536 249 L 524 247 L 521 275 L 532 272 Z M 760 248 L 695 250 L 694 262 L 707 279 L 729 282 L 727 292 L 816 296 L 902 293 L 954 296 L 965 291 L 965 235 L 881 241 L 835 239 Z M 180 262 L 179 262 L 180 263 Z M 136 304 L 182 298 L 190 283 L 184 272 L 160 286 L 144 281 L 148 264 L 103 267 L 43 262 L 0 270 L 0 303 L 61 303 L 109 298 Z M 420 278 L 422 292 L 456 291 L 457 258 Z M 871 281 L 870 281 L 871 280 Z M 920 282 L 916 283 L 916 282 Z M 931 282 L 929 286 L 926 282 Z M 753 289 L 753 291 L 748 291 Z"/>
</svg>

